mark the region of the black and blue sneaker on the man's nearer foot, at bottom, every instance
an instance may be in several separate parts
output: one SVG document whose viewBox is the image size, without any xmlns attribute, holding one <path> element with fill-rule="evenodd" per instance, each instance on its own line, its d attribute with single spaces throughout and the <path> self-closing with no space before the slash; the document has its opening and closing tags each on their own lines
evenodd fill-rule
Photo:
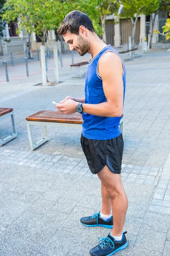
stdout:
<svg viewBox="0 0 170 256">
<path fill-rule="evenodd" d="M 114 253 L 118 252 L 119 250 L 123 250 L 127 247 L 127 240 L 125 237 L 125 234 L 127 232 L 124 232 L 122 234 L 122 240 L 116 241 L 109 233 L 107 237 L 102 238 L 99 237 L 99 244 L 91 249 L 90 255 L 91 256 L 111 256 Z"/>
</svg>

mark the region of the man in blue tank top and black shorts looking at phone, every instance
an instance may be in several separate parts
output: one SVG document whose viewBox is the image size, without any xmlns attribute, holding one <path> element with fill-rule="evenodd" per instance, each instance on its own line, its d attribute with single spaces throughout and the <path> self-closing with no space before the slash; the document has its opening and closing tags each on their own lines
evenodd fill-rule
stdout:
<svg viewBox="0 0 170 256">
<path fill-rule="evenodd" d="M 126 232 L 122 233 L 128 202 L 121 179 L 124 143 L 119 129 L 125 97 L 125 66 L 118 52 L 99 39 L 91 19 L 82 12 L 68 13 L 58 34 L 71 51 L 77 50 L 81 56 L 91 54 L 85 98 L 67 96 L 56 108 L 67 114 L 82 113 L 81 145 L 91 172 L 101 180 L 102 209 L 80 221 L 87 227 L 113 228 L 90 251 L 92 256 L 111 256 L 127 247 Z"/>
</svg>

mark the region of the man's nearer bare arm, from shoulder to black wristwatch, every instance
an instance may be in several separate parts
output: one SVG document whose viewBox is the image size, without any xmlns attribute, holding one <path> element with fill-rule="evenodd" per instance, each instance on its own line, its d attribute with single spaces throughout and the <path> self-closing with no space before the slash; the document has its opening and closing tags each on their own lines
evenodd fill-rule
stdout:
<svg viewBox="0 0 170 256">
<path fill-rule="evenodd" d="M 123 112 L 122 61 L 113 52 L 105 53 L 99 61 L 99 74 L 107 102 L 83 104 L 83 112 L 94 116 L 121 116 Z"/>
</svg>

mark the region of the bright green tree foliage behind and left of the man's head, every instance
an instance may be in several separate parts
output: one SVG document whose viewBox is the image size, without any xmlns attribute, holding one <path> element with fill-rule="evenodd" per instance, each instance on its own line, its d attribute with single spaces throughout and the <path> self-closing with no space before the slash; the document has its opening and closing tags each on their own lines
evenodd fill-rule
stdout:
<svg viewBox="0 0 170 256">
<path fill-rule="evenodd" d="M 44 34 L 48 30 L 57 29 L 71 10 L 79 10 L 91 18 L 94 29 L 99 32 L 101 31 L 100 16 L 96 6 L 102 2 L 102 0 L 79 2 L 75 0 L 6 0 L 2 17 L 7 22 L 20 20 L 17 33 L 26 29 L 27 33 L 35 32 L 41 35 L 42 32 Z"/>
</svg>

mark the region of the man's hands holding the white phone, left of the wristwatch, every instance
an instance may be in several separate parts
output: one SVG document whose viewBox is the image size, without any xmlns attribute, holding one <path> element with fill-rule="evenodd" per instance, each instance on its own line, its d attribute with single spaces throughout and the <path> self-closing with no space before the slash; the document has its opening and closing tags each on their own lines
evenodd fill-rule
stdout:
<svg viewBox="0 0 170 256">
<path fill-rule="evenodd" d="M 72 99 L 67 99 L 67 97 L 63 100 L 64 103 L 61 103 L 60 105 L 55 105 L 55 107 L 61 111 L 64 114 L 71 115 L 72 113 L 76 113 L 76 107 L 79 104 L 79 102 L 76 102 Z M 63 102 L 62 101 L 62 102 Z"/>
</svg>

